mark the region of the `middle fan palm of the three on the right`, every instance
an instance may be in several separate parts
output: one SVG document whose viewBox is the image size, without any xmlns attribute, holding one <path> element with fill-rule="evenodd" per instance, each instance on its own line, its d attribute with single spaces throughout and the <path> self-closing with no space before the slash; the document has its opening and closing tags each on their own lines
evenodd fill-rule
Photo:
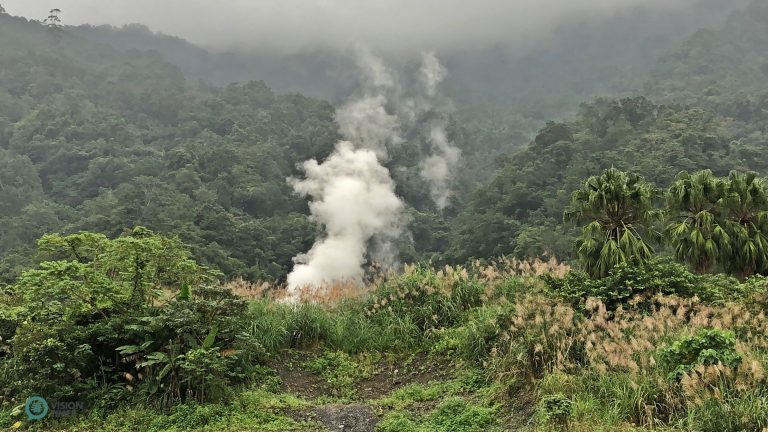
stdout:
<svg viewBox="0 0 768 432">
<path fill-rule="evenodd" d="M 730 254 L 730 236 L 718 218 L 727 182 L 712 171 L 681 172 L 667 191 L 667 239 L 677 259 L 696 273 L 708 272 Z"/>
</svg>

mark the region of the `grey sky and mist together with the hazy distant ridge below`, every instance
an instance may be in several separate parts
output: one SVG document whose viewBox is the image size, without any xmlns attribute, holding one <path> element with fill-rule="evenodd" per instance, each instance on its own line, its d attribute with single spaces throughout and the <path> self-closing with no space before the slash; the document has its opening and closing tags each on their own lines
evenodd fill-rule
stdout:
<svg viewBox="0 0 768 432">
<path fill-rule="evenodd" d="M 336 102 L 356 85 L 350 73 L 355 45 L 396 64 L 413 65 L 421 51 L 434 50 L 451 71 L 446 86 L 454 99 L 525 103 L 531 115 L 546 119 L 563 112 L 566 101 L 573 106 L 594 93 L 637 89 L 669 47 L 699 28 L 717 26 L 746 3 L 302 0 L 126 7 L 119 1 L 12 0 L 6 8 L 42 18 L 49 7 L 61 7 L 65 23 L 88 24 L 79 29 L 84 36 L 156 49 L 193 79 L 260 79 L 280 92 Z"/>
</svg>

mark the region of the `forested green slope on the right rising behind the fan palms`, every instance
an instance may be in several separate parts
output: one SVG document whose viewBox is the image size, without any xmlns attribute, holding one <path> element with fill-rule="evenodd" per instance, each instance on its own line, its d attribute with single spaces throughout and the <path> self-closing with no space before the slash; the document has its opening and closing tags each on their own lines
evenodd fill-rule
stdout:
<svg viewBox="0 0 768 432">
<path fill-rule="evenodd" d="M 768 5 L 753 2 L 661 57 L 644 85 L 655 99 L 599 98 L 550 122 L 454 221 L 448 256 L 571 256 L 562 212 L 584 178 L 611 166 L 659 187 L 681 170 L 765 173 L 767 30 Z"/>
</svg>

